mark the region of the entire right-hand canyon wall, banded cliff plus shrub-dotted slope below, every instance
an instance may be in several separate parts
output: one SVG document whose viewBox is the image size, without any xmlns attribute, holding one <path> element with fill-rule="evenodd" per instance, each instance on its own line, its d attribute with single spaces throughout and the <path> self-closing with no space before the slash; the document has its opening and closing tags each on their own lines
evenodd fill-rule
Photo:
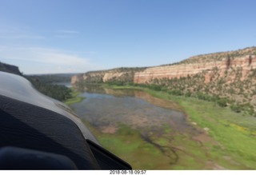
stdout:
<svg viewBox="0 0 256 175">
<path fill-rule="evenodd" d="M 72 78 L 73 85 L 80 82 L 148 84 L 174 95 L 217 99 L 223 106 L 244 109 L 256 117 L 256 47 L 202 54 L 172 65 L 94 71 Z"/>
</svg>

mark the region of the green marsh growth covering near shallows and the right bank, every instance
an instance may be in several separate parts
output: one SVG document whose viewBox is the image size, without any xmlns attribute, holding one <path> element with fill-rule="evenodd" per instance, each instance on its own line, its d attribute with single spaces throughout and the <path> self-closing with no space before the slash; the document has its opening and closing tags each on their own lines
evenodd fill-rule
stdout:
<svg viewBox="0 0 256 175">
<path fill-rule="evenodd" d="M 140 89 L 154 97 L 175 101 L 186 113 L 187 121 L 209 136 L 174 133 L 168 125 L 163 125 L 161 137 L 148 132 L 146 140 L 128 125 L 119 125 L 115 133 L 102 133 L 89 126 L 103 147 L 128 161 L 134 169 L 256 169 L 256 120 L 249 113 L 236 113 L 215 101 L 140 86 L 104 86 Z M 173 151 L 178 154 L 176 161 Z"/>
</svg>

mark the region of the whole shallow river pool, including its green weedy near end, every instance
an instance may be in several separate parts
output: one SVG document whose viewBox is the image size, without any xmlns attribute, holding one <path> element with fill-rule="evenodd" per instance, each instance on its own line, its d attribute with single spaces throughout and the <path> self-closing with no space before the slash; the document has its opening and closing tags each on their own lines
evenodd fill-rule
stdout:
<svg viewBox="0 0 256 175">
<path fill-rule="evenodd" d="M 133 167 L 212 169 L 214 166 L 214 162 L 207 161 L 210 158 L 206 150 L 206 143 L 213 144 L 214 141 L 207 136 L 206 130 L 188 122 L 173 101 L 152 97 L 139 90 L 98 86 L 86 86 L 81 96 L 86 97 L 85 100 L 71 107 L 83 121 L 90 123 L 92 133 L 97 131 L 95 134 L 102 146 L 106 145 L 106 149 Z M 136 141 L 139 144 L 135 146 Z M 119 150 L 120 147 L 123 150 Z"/>
</svg>

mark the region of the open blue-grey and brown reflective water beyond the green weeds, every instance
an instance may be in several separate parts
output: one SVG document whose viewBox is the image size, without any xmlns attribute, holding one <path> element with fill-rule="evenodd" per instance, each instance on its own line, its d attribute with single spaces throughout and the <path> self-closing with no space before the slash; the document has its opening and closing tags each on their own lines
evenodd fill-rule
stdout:
<svg viewBox="0 0 256 175">
<path fill-rule="evenodd" d="M 118 124 L 130 125 L 134 129 L 162 129 L 162 125 L 171 125 L 173 129 L 185 129 L 183 113 L 170 109 L 172 104 L 131 89 L 103 89 L 97 86 L 86 86 L 84 101 L 74 104 L 78 116 L 90 121 L 102 132 L 114 132 Z M 162 106 L 162 107 L 160 107 Z M 107 129 L 106 129 L 107 128 Z"/>
</svg>

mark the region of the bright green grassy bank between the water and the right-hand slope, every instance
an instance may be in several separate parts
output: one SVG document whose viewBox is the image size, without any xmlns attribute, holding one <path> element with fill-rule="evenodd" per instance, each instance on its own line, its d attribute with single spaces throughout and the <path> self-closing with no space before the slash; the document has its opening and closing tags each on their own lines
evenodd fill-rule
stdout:
<svg viewBox="0 0 256 175">
<path fill-rule="evenodd" d="M 235 113 L 228 107 L 220 107 L 211 101 L 202 101 L 194 97 L 174 96 L 164 92 L 133 86 L 108 86 L 112 89 L 140 89 L 154 97 L 175 101 L 186 113 L 187 121 L 202 129 L 213 141 L 198 138 L 207 151 L 193 150 L 197 159 L 207 161 L 209 167 L 200 167 L 188 160 L 189 165 L 172 166 L 172 169 L 256 169 L 256 117 L 246 113 Z M 107 138 L 101 137 L 106 144 Z M 104 142 L 105 141 L 105 142 Z M 184 145 L 190 143 L 184 142 Z M 111 148 L 111 146 L 110 146 Z M 115 148 L 118 149 L 118 148 Z"/>
</svg>

